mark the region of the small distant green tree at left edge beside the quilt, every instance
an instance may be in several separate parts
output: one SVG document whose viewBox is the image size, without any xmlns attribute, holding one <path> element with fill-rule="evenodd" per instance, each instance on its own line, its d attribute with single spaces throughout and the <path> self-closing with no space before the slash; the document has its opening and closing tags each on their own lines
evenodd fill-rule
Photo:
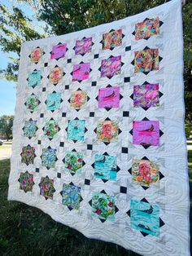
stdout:
<svg viewBox="0 0 192 256">
<path fill-rule="evenodd" d="M 2 136 L 5 136 L 7 140 L 12 137 L 12 127 L 13 116 L 0 117 L 0 133 Z"/>
</svg>

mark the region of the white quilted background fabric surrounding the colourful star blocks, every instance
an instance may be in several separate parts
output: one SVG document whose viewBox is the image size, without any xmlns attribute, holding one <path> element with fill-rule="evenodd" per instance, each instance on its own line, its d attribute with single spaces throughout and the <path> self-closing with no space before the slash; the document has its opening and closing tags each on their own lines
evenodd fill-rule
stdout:
<svg viewBox="0 0 192 256">
<path fill-rule="evenodd" d="M 163 25 L 159 28 L 159 35 L 152 36 L 148 40 L 135 40 L 133 31 L 135 24 L 142 22 L 146 18 L 159 16 Z M 112 51 L 103 50 L 100 43 L 103 39 L 103 33 L 108 33 L 111 29 L 122 29 L 124 38 L 121 46 L 116 46 Z M 73 47 L 76 40 L 81 38 L 90 38 L 94 45 L 92 50 L 85 55 L 75 55 Z M 52 46 L 59 42 L 68 44 L 68 51 L 63 58 L 59 60 L 50 60 L 50 51 Z M 129 47 L 125 51 L 125 47 Z M 134 73 L 134 65 L 131 64 L 134 59 L 134 51 L 140 51 L 145 47 L 158 48 L 159 55 L 163 58 L 159 62 L 159 70 L 144 73 Z M 41 47 L 45 54 L 37 63 L 31 63 L 28 57 L 31 51 L 36 47 Z M 94 59 L 94 55 L 98 58 Z M 111 77 L 101 77 L 98 68 L 101 61 L 107 59 L 110 55 L 121 55 L 121 61 L 124 65 L 121 67 L 119 75 Z M 72 59 L 68 63 L 68 59 Z M 92 71 L 89 73 L 89 79 L 80 82 L 72 82 L 72 67 L 74 64 L 90 63 Z M 45 65 L 47 63 L 47 65 Z M 49 82 L 47 76 L 50 69 L 55 65 L 63 68 L 65 73 L 62 82 L 56 86 Z M 41 70 L 41 85 L 28 86 L 28 73 L 34 69 Z M 59 37 L 40 39 L 32 42 L 24 42 L 20 53 L 19 82 L 17 86 L 17 102 L 15 107 L 15 120 L 13 127 L 13 147 L 11 156 L 11 174 L 9 178 L 8 200 L 22 201 L 25 204 L 32 205 L 49 214 L 55 221 L 75 228 L 89 238 L 110 241 L 125 249 L 131 249 L 142 255 L 188 255 L 190 254 L 189 238 L 189 187 L 187 174 L 187 158 L 184 132 L 184 99 L 183 99 L 183 39 L 181 23 L 181 1 L 173 0 L 162 6 L 155 7 L 138 15 L 133 15 L 124 20 L 118 20 L 110 24 L 103 24 L 91 29 L 85 29 L 80 32 L 70 33 Z M 130 77 L 129 82 L 124 82 L 124 77 Z M 159 91 L 162 93 L 159 101 L 159 107 L 133 108 L 134 85 L 142 85 L 143 82 L 159 83 Z M 97 82 L 92 86 L 92 82 Z M 120 86 L 120 108 L 111 108 L 107 111 L 104 108 L 98 108 L 98 101 L 95 99 L 98 95 L 98 89 L 111 86 Z M 46 88 L 46 89 L 42 89 Z M 70 108 L 68 99 L 74 90 L 81 88 L 89 96 L 89 101 L 85 108 L 80 111 Z M 53 91 L 62 94 L 63 102 L 58 110 L 50 112 L 46 109 L 46 97 Z M 28 95 L 38 95 L 41 103 L 37 111 L 33 113 L 26 112 L 25 102 Z M 89 117 L 89 113 L 94 112 L 94 117 Z M 124 117 L 124 113 L 129 112 L 129 117 Z M 64 115 L 63 115 L 64 113 Z M 40 117 L 43 114 L 43 117 Z M 50 118 L 59 120 L 59 134 L 55 139 L 45 139 L 42 128 Z M 67 139 L 68 120 L 76 117 L 85 120 L 85 141 L 72 142 Z M 94 132 L 97 123 L 101 119 L 109 117 L 117 121 L 121 130 L 117 139 L 111 141 L 108 145 L 96 141 Z M 151 146 L 143 148 L 142 145 L 133 144 L 133 135 L 130 131 L 133 129 L 133 121 L 141 121 L 143 118 L 159 121 L 159 128 L 162 135 L 159 137 L 159 147 Z M 28 139 L 24 137 L 24 121 L 32 118 L 37 121 L 37 133 L 35 138 Z M 41 143 L 40 143 L 41 141 Z M 38 143 L 39 142 L 39 143 Z M 63 146 L 60 146 L 60 143 Z M 36 157 L 34 163 L 26 165 L 21 163 L 20 153 L 22 148 L 27 145 L 35 148 Z M 89 149 L 87 145 L 92 145 Z M 42 148 L 55 148 L 57 158 L 55 168 L 46 169 L 41 166 Z M 127 148 L 123 152 L 122 148 Z M 78 152 L 84 152 L 85 166 L 81 174 L 71 175 L 63 169 L 63 158 L 66 151 L 76 149 Z M 116 174 L 116 180 L 103 182 L 102 179 L 94 177 L 94 155 L 107 152 L 111 156 L 117 157 L 117 166 L 119 171 Z M 163 179 L 159 180 L 159 185 L 151 185 L 148 189 L 143 189 L 137 183 L 133 183 L 132 175 L 129 170 L 132 168 L 133 160 L 147 157 L 151 161 L 159 164 L 159 170 L 163 174 Z M 33 174 L 33 191 L 24 192 L 20 189 L 20 173 L 28 170 Z M 58 177 L 60 174 L 60 177 Z M 49 176 L 54 180 L 54 196 L 52 199 L 45 199 L 40 195 L 38 184 L 41 177 Z M 89 184 L 85 183 L 89 180 Z M 62 205 L 62 196 L 60 192 L 63 183 L 74 183 L 81 187 L 82 201 L 78 210 L 68 210 L 66 205 Z M 122 192 L 121 188 L 127 188 Z M 106 220 L 101 222 L 91 214 L 90 201 L 93 192 L 107 192 L 110 196 L 115 196 L 115 203 L 118 211 L 115 214 L 115 220 Z M 131 225 L 130 201 L 141 201 L 143 198 L 150 205 L 159 205 L 159 236 L 143 236 L 138 229 Z M 92 202 L 93 203 L 93 202 Z"/>
</svg>

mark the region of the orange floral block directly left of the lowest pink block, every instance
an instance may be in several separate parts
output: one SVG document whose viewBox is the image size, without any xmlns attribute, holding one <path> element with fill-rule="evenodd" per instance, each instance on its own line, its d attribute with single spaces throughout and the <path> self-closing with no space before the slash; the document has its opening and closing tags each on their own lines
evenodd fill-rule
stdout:
<svg viewBox="0 0 192 256">
<path fill-rule="evenodd" d="M 101 142 L 110 143 L 116 139 L 119 134 L 119 126 L 116 121 L 101 120 L 98 121 L 97 126 L 97 140 Z"/>
</svg>

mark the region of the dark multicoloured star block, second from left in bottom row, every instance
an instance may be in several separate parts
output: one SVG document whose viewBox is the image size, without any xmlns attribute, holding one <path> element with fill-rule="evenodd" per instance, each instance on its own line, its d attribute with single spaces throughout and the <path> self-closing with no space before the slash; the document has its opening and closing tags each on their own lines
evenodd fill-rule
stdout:
<svg viewBox="0 0 192 256">
<path fill-rule="evenodd" d="M 48 198 L 53 199 L 53 195 L 55 192 L 53 179 L 49 179 L 48 176 L 46 176 L 45 178 L 42 177 L 41 183 L 39 183 L 39 188 L 40 188 L 40 195 L 44 196 L 46 200 Z"/>
</svg>

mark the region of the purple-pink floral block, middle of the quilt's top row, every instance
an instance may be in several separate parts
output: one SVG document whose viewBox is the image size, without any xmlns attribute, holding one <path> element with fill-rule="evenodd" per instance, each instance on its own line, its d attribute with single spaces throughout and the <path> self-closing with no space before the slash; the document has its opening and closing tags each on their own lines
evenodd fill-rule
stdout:
<svg viewBox="0 0 192 256">
<path fill-rule="evenodd" d="M 85 55 L 91 51 L 92 48 L 92 38 L 82 38 L 81 40 L 76 40 L 75 55 Z"/>
</svg>

